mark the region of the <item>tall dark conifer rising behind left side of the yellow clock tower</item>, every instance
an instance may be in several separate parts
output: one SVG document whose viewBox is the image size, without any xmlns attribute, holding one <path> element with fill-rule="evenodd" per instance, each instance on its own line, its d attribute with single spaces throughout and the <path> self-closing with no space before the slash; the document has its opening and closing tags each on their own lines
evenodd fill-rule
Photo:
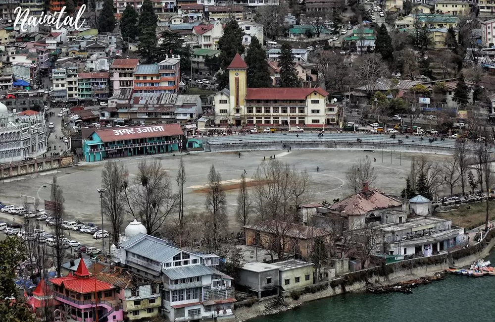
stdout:
<svg viewBox="0 0 495 322">
<path fill-rule="evenodd" d="M 219 89 L 226 87 L 229 83 L 229 73 L 227 67 L 234 59 L 234 56 L 244 54 L 243 46 L 244 31 L 236 20 L 232 19 L 227 22 L 223 31 L 223 36 L 218 40 L 218 49 L 220 50 L 220 67 L 223 69 L 217 75 L 217 83 Z"/>
</svg>

